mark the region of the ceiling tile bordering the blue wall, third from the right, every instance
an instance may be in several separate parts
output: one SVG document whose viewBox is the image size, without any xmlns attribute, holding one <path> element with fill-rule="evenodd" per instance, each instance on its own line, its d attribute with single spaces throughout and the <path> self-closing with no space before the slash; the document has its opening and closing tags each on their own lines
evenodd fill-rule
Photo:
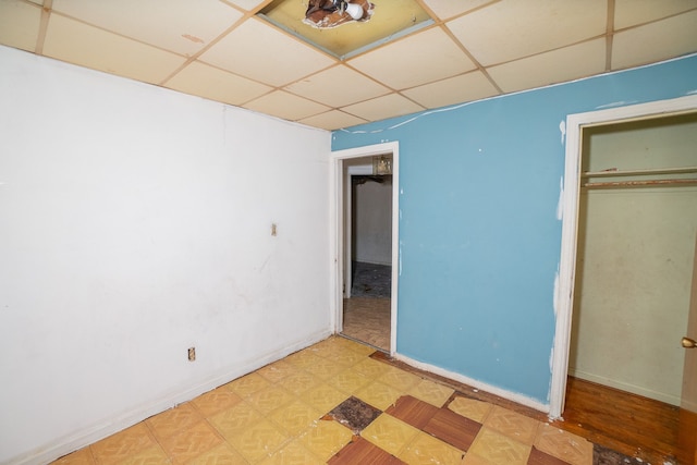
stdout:
<svg viewBox="0 0 697 465">
<path fill-rule="evenodd" d="M 445 107 L 479 100 L 499 94 L 480 71 L 463 74 L 425 86 L 403 90 L 402 94 L 426 108 Z"/>
</svg>

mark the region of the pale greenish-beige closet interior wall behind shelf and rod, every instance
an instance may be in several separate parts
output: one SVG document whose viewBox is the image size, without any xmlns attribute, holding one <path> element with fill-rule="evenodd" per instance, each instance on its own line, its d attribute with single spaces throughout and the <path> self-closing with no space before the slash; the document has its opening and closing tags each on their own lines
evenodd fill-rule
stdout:
<svg viewBox="0 0 697 465">
<path fill-rule="evenodd" d="M 697 119 L 670 121 L 600 129 L 584 170 L 697 166 Z M 696 206 L 695 186 L 582 191 L 573 376 L 680 405 Z"/>
</svg>

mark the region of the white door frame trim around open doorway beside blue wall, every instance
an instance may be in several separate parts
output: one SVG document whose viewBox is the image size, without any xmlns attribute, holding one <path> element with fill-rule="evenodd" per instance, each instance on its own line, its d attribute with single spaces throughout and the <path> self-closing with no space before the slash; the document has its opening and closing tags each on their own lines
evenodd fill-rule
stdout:
<svg viewBox="0 0 697 465">
<path fill-rule="evenodd" d="M 346 193 L 344 176 L 344 160 L 352 158 L 374 157 L 378 155 L 392 156 L 392 289 L 390 294 L 390 355 L 396 353 L 396 317 L 398 317 L 398 286 L 401 269 L 399 227 L 400 227 L 400 144 L 389 142 L 364 147 L 335 150 L 331 152 L 330 164 L 330 247 L 333 264 L 330 273 L 331 327 L 335 333 L 343 330 L 343 285 L 345 272 L 345 227 L 344 197 Z"/>
</svg>

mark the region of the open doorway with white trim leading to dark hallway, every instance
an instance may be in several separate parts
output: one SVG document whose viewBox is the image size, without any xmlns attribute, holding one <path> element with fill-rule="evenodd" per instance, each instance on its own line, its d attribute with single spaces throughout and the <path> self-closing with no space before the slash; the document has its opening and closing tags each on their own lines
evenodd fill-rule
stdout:
<svg viewBox="0 0 697 465">
<path fill-rule="evenodd" d="M 332 152 L 335 332 L 396 350 L 398 143 Z M 389 172 L 376 171 L 387 162 Z"/>
</svg>

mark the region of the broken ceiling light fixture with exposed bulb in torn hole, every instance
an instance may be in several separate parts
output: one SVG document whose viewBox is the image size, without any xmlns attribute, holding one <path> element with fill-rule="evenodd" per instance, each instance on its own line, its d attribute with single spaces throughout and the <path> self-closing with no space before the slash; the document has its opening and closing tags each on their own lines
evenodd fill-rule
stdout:
<svg viewBox="0 0 697 465">
<path fill-rule="evenodd" d="M 351 21 L 368 21 L 374 9 L 368 0 L 309 0 L 303 23 L 327 29 Z"/>
</svg>

